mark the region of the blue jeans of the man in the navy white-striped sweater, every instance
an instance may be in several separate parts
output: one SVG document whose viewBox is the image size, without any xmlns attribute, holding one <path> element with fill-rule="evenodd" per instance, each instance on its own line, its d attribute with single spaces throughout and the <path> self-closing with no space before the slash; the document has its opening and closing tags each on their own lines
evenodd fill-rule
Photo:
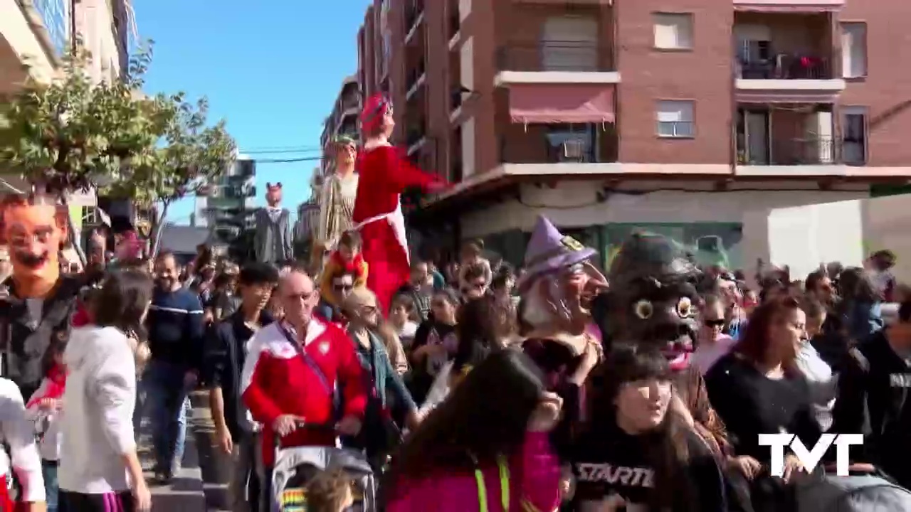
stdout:
<svg viewBox="0 0 911 512">
<path fill-rule="evenodd" d="M 183 458 L 187 438 L 186 367 L 150 361 L 142 377 L 145 404 L 152 427 L 156 471 L 170 473 Z"/>
</svg>

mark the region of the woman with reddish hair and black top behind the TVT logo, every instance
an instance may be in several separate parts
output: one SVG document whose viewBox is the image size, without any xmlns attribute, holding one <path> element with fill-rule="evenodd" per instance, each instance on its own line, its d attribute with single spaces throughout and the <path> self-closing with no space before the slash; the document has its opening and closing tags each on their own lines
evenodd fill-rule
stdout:
<svg viewBox="0 0 911 512">
<path fill-rule="evenodd" d="M 741 456 L 742 473 L 752 480 L 756 510 L 764 510 L 766 504 L 788 510 L 793 487 L 785 484 L 802 471 L 800 460 L 786 452 L 783 477 L 769 477 L 772 447 L 759 445 L 759 435 L 793 434 L 813 446 L 821 434 L 809 386 L 794 366 L 802 343 L 806 315 L 800 302 L 779 296 L 752 312 L 741 341 L 705 375 L 711 404 L 727 426 L 734 452 Z"/>
</svg>

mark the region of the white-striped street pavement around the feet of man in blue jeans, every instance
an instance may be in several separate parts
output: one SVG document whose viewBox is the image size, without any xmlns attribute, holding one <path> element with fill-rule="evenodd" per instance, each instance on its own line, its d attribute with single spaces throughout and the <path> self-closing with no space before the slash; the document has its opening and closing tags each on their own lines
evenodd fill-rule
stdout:
<svg viewBox="0 0 911 512">
<path fill-rule="evenodd" d="M 202 400 L 205 398 L 205 400 Z M 139 459 L 146 471 L 146 481 L 152 492 L 152 512 L 200 512 L 222 511 L 226 509 L 227 482 L 226 478 L 219 479 L 218 466 L 228 466 L 225 456 L 218 457 L 217 450 L 213 449 L 211 414 L 208 407 L 208 397 L 200 394 L 190 396 L 193 405 L 191 414 L 187 418 L 187 442 L 184 449 L 183 461 L 178 473 L 168 486 L 161 486 L 154 482 L 152 466 L 152 442 L 148 418 L 144 418 L 139 429 L 138 446 Z M 218 459 L 223 459 L 219 461 Z M 227 472 L 224 472 L 227 474 Z M 204 480 L 203 476 L 208 476 Z"/>
</svg>

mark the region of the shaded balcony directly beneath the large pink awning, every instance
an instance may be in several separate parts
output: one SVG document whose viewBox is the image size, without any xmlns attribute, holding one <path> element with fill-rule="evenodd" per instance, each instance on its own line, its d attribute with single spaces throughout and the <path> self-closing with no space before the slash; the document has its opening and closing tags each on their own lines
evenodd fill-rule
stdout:
<svg viewBox="0 0 911 512">
<path fill-rule="evenodd" d="M 500 161 L 511 164 L 589 164 L 617 161 L 617 137 L 596 124 L 507 125 Z"/>
</svg>

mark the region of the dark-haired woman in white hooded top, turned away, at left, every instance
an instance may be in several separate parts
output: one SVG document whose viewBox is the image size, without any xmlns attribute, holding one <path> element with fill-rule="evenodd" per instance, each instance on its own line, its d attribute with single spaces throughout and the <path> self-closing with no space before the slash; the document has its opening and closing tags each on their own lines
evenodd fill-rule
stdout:
<svg viewBox="0 0 911 512">
<path fill-rule="evenodd" d="M 91 304 L 93 324 L 73 330 L 58 478 L 67 512 L 148 511 L 133 432 L 136 363 L 127 333 L 140 331 L 152 282 L 140 271 L 116 271 Z"/>
</svg>

